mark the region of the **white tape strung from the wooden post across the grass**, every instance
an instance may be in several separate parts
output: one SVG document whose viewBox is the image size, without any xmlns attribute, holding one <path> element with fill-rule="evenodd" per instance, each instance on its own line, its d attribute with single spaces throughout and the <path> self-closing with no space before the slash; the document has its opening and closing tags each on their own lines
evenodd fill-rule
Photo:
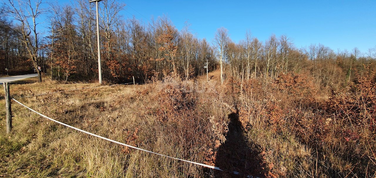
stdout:
<svg viewBox="0 0 376 178">
<path fill-rule="evenodd" d="M 127 147 L 130 147 L 130 148 L 138 149 L 138 150 L 145 151 L 145 152 L 149 152 L 149 153 L 152 153 L 152 154 L 156 154 L 156 155 L 160 155 L 160 156 L 164 156 L 164 157 L 168 157 L 168 158 L 173 158 L 173 159 L 176 159 L 176 160 L 185 161 L 185 162 L 188 162 L 188 163 L 197 164 L 197 165 L 200 165 L 200 166 L 209 167 L 209 168 L 211 168 L 211 169 L 216 169 L 216 170 L 221 170 L 221 171 L 223 171 L 223 170 L 220 169 L 219 167 L 210 166 L 210 165 L 202 164 L 202 163 L 196 163 L 196 162 L 193 162 L 193 161 L 183 160 L 183 159 L 179 159 L 179 158 L 175 158 L 175 157 L 170 157 L 170 156 L 163 155 L 163 154 L 159 154 L 159 153 L 156 153 L 156 152 L 152 152 L 152 151 L 149 151 L 149 150 L 146 150 L 146 149 L 138 148 L 138 147 L 135 147 L 135 146 L 132 146 L 132 145 L 127 145 L 127 144 L 125 144 L 125 143 L 121 143 L 121 142 L 118 142 L 118 141 L 115 141 L 115 140 L 111 140 L 111 139 L 108 139 L 108 138 L 106 138 L 106 137 L 102 137 L 102 136 L 99 136 L 99 135 L 97 135 L 97 134 L 90 133 L 90 132 L 85 131 L 85 130 L 81 130 L 81 129 L 79 129 L 79 128 L 76 128 L 76 127 L 70 126 L 70 125 L 68 125 L 68 124 L 64 124 L 64 123 L 62 123 L 62 122 L 56 121 L 55 119 L 49 118 L 49 117 L 47 117 L 47 116 L 45 116 L 45 115 L 43 115 L 43 114 L 41 114 L 41 113 L 38 113 L 38 112 L 36 112 L 35 110 L 33 110 L 33 109 L 31 109 L 31 108 L 25 106 L 24 104 L 20 103 L 20 102 L 17 101 L 17 100 L 15 100 L 14 98 L 12 98 L 12 100 L 14 100 L 15 102 L 17 102 L 17 103 L 20 104 L 21 106 L 26 107 L 26 108 L 29 109 L 30 111 L 35 112 L 35 113 L 37 113 L 38 115 L 40 115 L 40 116 L 42 116 L 42 117 L 44 117 L 44 118 L 47 118 L 47 119 L 49 119 L 49 120 L 51 120 L 51 121 L 54 121 L 54 122 L 56 122 L 56 123 L 59 123 L 59 124 L 61 124 L 61 125 L 67 126 L 67 127 L 69 127 L 69 128 L 73 128 L 74 130 L 78 130 L 78 131 L 80 131 L 80 132 L 83 132 L 83 133 L 89 134 L 89 135 L 91 135 L 91 136 L 98 137 L 98 138 L 101 138 L 101 139 L 104 139 L 104 140 L 107 140 L 107 141 L 110 141 L 110 142 L 113 142 L 113 143 L 117 143 L 117 144 L 119 144 L 119 145 L 127 146 Z M 236 172 L 236 171 L 233 171 L 233 173 L 234 173 L 234 174 L 237 174 L 237 175 L 239 174 L 239 172 Z M 253 176 L 251 176 L 251 175 L 248 175 L 247 177 L 248 177 L 248 178 L 253 178 Z M 259 178 L 259 177 L 256 177 L 256 178 Z"/>
</svg>

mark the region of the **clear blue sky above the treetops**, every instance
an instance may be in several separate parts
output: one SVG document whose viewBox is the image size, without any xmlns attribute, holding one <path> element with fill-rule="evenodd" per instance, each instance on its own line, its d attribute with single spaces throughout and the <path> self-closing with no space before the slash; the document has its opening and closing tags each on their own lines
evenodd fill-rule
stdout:
<svg viewBox="0 0 376 178">
<path fill-rule="evenodd" d="M 376 0 L 223 1 L 223 0 L 118 0 L 129 4 L 124 17 L 167 15 L 178 30 L 185 21 L 199 38 L 209 42 L 219 27 L 237 42 L 246 30 L 261 41 L 272 33 L 293 39 L 296 47 L 321 43 L 332 48 L 361 52 L 376 46 Z M 61 0 L 64 4 L 69 0 Z M 140 15 L 142 14 L 142 15 Z M 146 18 L 145 18 L 146 17 Z"/>
</svg>

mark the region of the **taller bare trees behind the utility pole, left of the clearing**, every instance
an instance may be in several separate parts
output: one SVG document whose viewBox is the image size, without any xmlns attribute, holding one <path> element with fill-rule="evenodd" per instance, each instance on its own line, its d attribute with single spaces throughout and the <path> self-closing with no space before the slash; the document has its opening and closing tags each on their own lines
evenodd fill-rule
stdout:
<svg viewBox="0 0 376 178">
<path fill-rule="evenodd" d="M 6 2 L 1 8 L 8 14 L 1 18 L 0 26 L 1 71 L 4 72 L 4 68 L 32 68 L 30 64 L 33 61 L 25 44 L 34 47 L 38 44 L 38 52 L 31 55 L 36 55 L 36 66 L 42 66 L 53 80 L 98 80 L 95 3 L 87 0 L 73 3 L 62 7 L 51 5 L 49 11 L 34 9 L 35 14 L 42 13 L 48 17 L 45 22 L 48 23 L 47 37 L 42 38 L 37 33 L 37 40 L 34 40 L 37 42 L 34 42 L 30 39 L 34 39 L 35 35 L 29 33 L 33 32 L 33 28 L 22 27 L 27 21 L 33 25 L 32 17 L 25 15 L 26 11 L 32 11 L 27 2 L 22 2 L 21 7 L 15 5 L 15 8 L 11 2 Z M 34 2 L 31 5 L 34 6 Z M 135 18 L 124 19 L 119 14 L 124 6 L 115 0 L 100 2 L 104 80 L 119 83 L 135 76 L 136 80 L 145 82 L 153 76 L 161 79 L 171 72 L 188 79 L 206 72 L 203 68 L 206 60 L 211 64 L 209 70 L 215 68 L 211 45 L 205 39 L 196 38 L 189 31 L 188 24 L 179 32 L 166 17 L 148 24 Z M 23 14 L 18 14 L 17 8 L 22 9 Z M 23 15 L 25 18 L 18 18 Z M 15 20 L 8 20 L 14 17 Z M 37 14 L 35 17 L 41 16 Z M 40 24 L 36 30 L 41 30 Z M 26 37 L 23 31 L 26 31 Z"/>
</svg>

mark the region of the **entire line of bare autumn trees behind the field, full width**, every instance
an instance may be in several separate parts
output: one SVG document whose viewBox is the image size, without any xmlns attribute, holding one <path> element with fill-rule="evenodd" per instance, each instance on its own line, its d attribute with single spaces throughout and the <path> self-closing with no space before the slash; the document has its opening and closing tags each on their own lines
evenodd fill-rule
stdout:
<svg viewBox="0 0 376 178">
<path fill-rule="evenodd" d="M 6 14 L 0 17 L 0 72 L 41 66 L 53 80 L 98 80 L 94 3 L 76 0 L 72 5 L 42 9 L 36 8 L 46 6 L 40 0 L 30 6 L 5 2 L 0 7 L 1 14 Z M 102 75 L 113 83 L 132 76 L 146 82 L 169 74 L 189 79 L 205 73 L 208 60 L 209 70 L 220 67 L 223 78 L 269 80 L 293 71 L 314 75 L 321 86 L 342 85 L 352 81 L 354 69 L 376 58 L 376 48 L 367 53 L 358 48 L 335 52 L 322 44 L 297 48 L 286 35 L 271 35 L 262 42 L 247 32 L 244 40 L 234 43 L 224 28 L 207 42 L 193 35 L 188 24 L 179 32 L 167 17 L 147 24 L 125 19 L 120 15 L 124 7 L 115 0 L 100 2 Z M 41 24 L 32 21 L 41 15 L 47 17 L 44 36 Z"/>
</svg>

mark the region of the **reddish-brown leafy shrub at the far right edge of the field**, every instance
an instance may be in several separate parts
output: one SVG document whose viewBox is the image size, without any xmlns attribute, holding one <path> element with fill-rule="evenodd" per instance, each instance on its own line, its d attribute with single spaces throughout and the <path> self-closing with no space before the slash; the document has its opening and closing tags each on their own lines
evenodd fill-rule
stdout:
<svg viewBox="0 0 376 178">
<path fill-rule="evenodd" d="M 343 119 L 348 127 L 366 127 L 376 131 L 376 71 L 356 72 L 356 83 L 339 91 L 332 90 L 330 100 L 325 104 L 327 113 Z"/>
</svg>

